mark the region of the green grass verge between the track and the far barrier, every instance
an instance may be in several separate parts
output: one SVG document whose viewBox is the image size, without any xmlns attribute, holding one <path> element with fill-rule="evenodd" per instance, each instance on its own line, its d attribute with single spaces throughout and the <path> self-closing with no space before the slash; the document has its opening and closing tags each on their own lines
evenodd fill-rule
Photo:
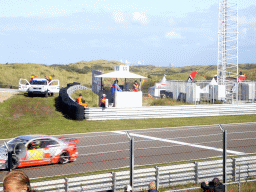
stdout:
<svg viewBox="0 0 256 192">
<path fill-rule="evenodd" d="M 0 103 L 0 139 L 25 134 L 59 135 L 69 133 L 132 130 L 159 127 L 255 122 L 256 115 L 138 119 L 110 121 L 74 121 L 58 111 L 58 97 L 26 97 L 19 93 Z"/>
</svg>

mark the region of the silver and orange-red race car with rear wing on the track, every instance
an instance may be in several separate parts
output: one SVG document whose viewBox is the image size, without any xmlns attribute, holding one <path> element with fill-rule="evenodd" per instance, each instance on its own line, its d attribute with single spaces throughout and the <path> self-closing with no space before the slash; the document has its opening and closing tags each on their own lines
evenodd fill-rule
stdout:
<svg viewBox="0 0 256 192">
<path fill-rule="evenodd" d="M 77 143 L 78 139 L 47 135 L 16 137 L 0 147 L 0 169 L 8 168 L 8 151 L 12 152 L 12 169 L 75 161 Z"/>
</svg>

